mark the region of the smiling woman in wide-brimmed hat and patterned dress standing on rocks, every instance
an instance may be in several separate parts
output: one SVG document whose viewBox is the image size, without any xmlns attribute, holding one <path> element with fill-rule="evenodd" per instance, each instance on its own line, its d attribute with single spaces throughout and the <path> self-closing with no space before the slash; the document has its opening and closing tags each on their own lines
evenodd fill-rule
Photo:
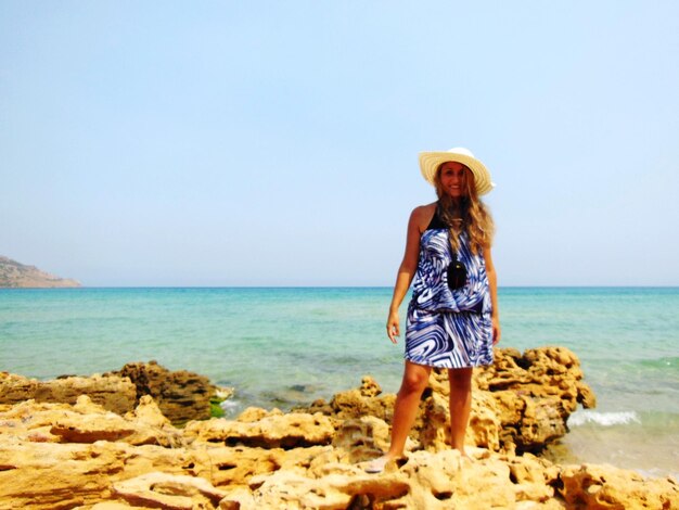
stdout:
<svg viewBox="0 0 679 510">
<path fill-rule="evenodd" d="M 478 199 L 495 186 L 490 174 L 463 148 L 421 153 L 420 168 L 436 187 L 438 201 L 417 207 L 408 222 L 406 253 L 386 323 L 387 335 L 396 343 L 398 308 L 414 277 L 406 366 L 394 408 L 392 444 L 384 456 L 366 467 L 373 473 L 403 456 L 432 367 L 448 369 L 451 446 L 469 458 L 464 434 L 472 406 L 472 370 L 492 364 L 492 346 L 500 341 L 497 277 L 490 256 L 494 222 Z M 449 270 L 456 263 L 462 263 L 464 269 Z"/>
</svg>

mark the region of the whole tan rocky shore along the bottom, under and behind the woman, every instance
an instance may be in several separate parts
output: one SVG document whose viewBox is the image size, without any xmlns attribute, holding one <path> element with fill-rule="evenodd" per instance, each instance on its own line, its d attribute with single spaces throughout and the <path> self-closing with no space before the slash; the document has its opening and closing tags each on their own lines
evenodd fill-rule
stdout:
<svg viewBox="0 0 679 510">
<path fill-rule="evenodd" d="M 679 508 L 670 477 L 539 456 L 578 405 L 595 405 L 563 347 L 497 349 L 476 372 L 472 462 L 447 446 L 448 384 L 434 373 L 408 458 L 382 474 L 361 462 L 388 445 L 395 395 L 372 378 L 330 401 L 234 420 L 207 419 L 218 392 L 156 364 L 47 382 L 1 373 L 0 508 Z"/>
</svg>

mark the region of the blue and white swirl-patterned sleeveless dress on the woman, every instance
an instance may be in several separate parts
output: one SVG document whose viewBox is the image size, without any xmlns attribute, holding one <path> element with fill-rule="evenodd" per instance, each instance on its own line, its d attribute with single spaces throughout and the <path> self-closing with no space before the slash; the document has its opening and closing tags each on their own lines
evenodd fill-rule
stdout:
<svg viewBox="0 0 679 510">
<path fill-rule="evenodd" d="M 451 291 L 446 269 L 452 260 L 449 231 L 434 215 L 420 239 L 420 259 L 408 306 L 406 359 L 418 365 L 464 368 L 492 365 L 492 306 L 483 252 L 474 255 L 460 234 L 458 259 L 466 284 Z"/>
</svg>

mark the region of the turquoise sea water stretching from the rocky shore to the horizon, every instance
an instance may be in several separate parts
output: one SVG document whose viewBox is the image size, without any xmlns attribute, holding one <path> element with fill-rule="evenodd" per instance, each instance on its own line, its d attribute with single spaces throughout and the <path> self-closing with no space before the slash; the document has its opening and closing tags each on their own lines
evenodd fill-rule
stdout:
<svg viewBox="0 0 679 510">
<path fill-rule="evenodd" d="M 372 374 L 395 393 L 402 342 L 390 289 L 0 290 L 0 370 L 38 379 L 155 359 L 233 386 L 245 406 L 290 408 Z M 578 411 L 564 460 L 679 472 L 679 289 L 500 289 L 501 346 L 564 345 L 598 408 Z M 401 321 L 405 322 L 405 307 Z"/>
</svg>

